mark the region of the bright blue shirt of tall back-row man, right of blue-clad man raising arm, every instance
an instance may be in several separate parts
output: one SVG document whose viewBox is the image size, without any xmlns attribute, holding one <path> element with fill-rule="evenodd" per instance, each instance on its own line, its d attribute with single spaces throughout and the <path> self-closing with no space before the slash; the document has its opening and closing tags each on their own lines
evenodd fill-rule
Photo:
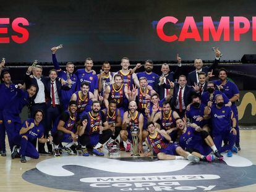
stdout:
<svg viewBox="0 0 256 192">
<path fill-rule="evenodd" d="M 98 89 L 98 76 L 95 74 L 93 75 L 93 72 L 86 72 L 85 69 L 78 69 L 75 72 L 75 75 L 77 75 L 78 83 L 77 83 L 77 90 L 79 91 L 81 88 L 81 83 L 83 81 L 87 81 L 89 83 L 89 91 L 94 93 L 94 90 Z"/>
</svg>

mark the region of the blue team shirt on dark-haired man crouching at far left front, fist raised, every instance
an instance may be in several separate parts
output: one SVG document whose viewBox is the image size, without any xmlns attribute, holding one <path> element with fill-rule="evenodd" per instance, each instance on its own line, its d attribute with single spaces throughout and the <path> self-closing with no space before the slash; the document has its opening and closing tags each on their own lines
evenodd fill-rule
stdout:
<svg viewBox="0 0 256 192">
<path fill-rule="evenodd" d="M 28 122 L 28 127 L 30 126 L 31 123 L 35 123 L 34 119 L 29 118 L 22 123 L 22 127 L 27 128 L 26 121 Z M 28 141 L 33 141 L 33 140 L 36 140 L 36 138 L 41 138 L 43 136 L 43 133 L 44 133 L 43 124 L 39 123 L 38 125 L 35 124 L 35 126 L 32 129 L 28 130 L 27 133 L 24 133 L 20 136 L 25 135 L 27 136 Z"/>
</svg>

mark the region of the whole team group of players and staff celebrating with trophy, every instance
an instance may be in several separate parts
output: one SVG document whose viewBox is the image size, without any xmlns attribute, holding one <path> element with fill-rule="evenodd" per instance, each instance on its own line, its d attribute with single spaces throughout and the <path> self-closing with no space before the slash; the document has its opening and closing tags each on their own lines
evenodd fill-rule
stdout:
<svg viewBox="0 0 256 192">
<path fill-rule="evenodd" d="M 226 69 L 219 69 L 219 79 L 211 80 L 222 56 L 218 48 L 208 67 L 195 59 L 195 70 L 184 74 L 177 55 L 175 72 L 163 64 L 161 76 L 152 72 L 151 60 L 145 61 L 144 72 L 136 73 L 142 65 L 129 69 L 127 57 L 121 59 L 118 72 L 110 72 L 111 65 L 104 62 L 96 75 L 90 57 L 85 69 L 74 72 L 74 64 L 67 62 L 64 71 L 56 59 L 59 48 L 51 48 L 54 69 L 49 77 L 43 77 L 43 67 L 33 65 L 23 85 L 12 83 L 1 62 L 1 156 L 6 156 L 6 133 L 11 157 L 20 157 L 20 162 L 26 162 L 25 156 L 38 159 L 39 154 L 60 157 L 63 151 L 104 156 L 103 145 L 111 149 L 114 142 L 129 152 L 133 127 L 139 128 L 139 152 L 158 159 L 211 162 L 223 159 L 222 152 L 232 157 L 240 150 L 239 90 L 228 80 Z M 26 105 L 30 118 L 22 123 L 19 114 Z"/>
</svg>

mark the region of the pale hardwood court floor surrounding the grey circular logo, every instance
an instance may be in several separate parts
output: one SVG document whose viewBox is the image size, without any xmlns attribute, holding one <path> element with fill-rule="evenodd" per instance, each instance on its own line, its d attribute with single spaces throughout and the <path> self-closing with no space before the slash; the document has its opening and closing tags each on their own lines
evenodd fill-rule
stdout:
<svg viewBox="0 0 256 192">
<path fill-rule="evenodd" d="M 256 130 L 241 130 L 240 133 L 242 150 L 239 151 L 239 155 L 249 159 L 253 164 L 256 164 Z M 19 162 L 19 159 L 11 159 L 11 154 L 8 150 L 9 146 L 6 148 L 7 156 L 0 156 L 0 191 L 64 191 L 33 185 L 22 178 L 22 174 L 25 171 L 35 168 L 38 162 L 48 159 L 51 156 L 40 156 L 39 159 L 32 159 L 22 164 Z M 256 185 L 223 191 L 256 191 Z"/>
</svg>

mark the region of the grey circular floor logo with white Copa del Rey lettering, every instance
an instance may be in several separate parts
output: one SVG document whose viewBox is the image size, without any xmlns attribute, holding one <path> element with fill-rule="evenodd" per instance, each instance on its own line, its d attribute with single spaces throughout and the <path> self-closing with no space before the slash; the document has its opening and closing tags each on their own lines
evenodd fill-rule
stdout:
<svg viewBox="0 0 256 192">
<path fill-rule="evenodd" d="M 211 191 L 255 184 L 256 166 L 237 155 L 198 164 L 64 156 L 41 161 L 22 177 L 36 185 L 73 191 Z"/>
</svg>

